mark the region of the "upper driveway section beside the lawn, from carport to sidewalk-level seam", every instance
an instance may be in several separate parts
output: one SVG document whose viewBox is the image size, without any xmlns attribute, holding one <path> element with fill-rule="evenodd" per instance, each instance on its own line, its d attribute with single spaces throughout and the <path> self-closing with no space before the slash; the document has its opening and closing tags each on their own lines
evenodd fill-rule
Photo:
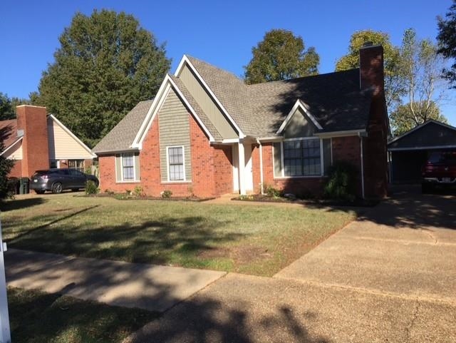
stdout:
<svg viewBox="0 0 456 343">
<path fill-rule="evenodd" d="M 454 301 L 456 197 L 398 190 L 275 277 Z"/>
</svg>

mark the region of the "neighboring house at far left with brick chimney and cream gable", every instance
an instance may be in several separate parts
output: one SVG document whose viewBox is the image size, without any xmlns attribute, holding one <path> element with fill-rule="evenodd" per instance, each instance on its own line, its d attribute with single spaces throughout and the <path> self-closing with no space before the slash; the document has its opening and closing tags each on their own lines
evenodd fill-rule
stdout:
<svg viewBox="0 0 456 343">
<path fill-rule="evenodd" d="M 27 177 L 36 170 L 76 168 L 84 171 L 96 157 L 90 148 L 71 133 L 46 108 L 21 105 L 17 119 L 0 121 L 1 155 L 14 160 L 10 177 Z"/>
</svg>

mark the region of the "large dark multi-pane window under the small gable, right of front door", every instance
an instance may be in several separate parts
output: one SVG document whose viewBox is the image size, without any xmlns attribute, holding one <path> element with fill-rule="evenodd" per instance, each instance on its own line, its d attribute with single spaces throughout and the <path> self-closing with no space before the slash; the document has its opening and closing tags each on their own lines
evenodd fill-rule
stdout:
<svg viewBox="0 0 456 343">
<path fill-rule="evenodd" d="M 319 138 L 285 140 L 283 148 L 285 176 L 321 175 Z"/>
</svg>

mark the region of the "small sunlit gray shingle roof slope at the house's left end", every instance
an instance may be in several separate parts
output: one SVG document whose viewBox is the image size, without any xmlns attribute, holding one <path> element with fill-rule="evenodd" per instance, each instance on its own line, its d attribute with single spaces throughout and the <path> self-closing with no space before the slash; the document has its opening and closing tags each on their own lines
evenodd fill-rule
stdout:
<svg viewBox="0 0 456 343">
<path fill-rule="evenodd" d="M 149 111 L 153 100 L 140 101 L 133 110 L 103 137 L 95 148 L 94 153 L 130 150 L 133 140 Z"/>
</svg>

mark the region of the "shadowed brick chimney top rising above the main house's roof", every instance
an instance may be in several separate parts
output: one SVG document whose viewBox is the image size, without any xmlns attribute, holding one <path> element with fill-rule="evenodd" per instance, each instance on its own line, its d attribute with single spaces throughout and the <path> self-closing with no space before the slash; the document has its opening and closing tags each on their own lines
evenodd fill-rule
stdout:
<svg viewBox="0 0 456 343">
<path fill-rule="evenodd" d="M 361 89 L 374 86 L 373 96 L 383 95 L 385 81 L 383 79 L 383 46 L 364 43 L 359 50 Z"/>
</svg>

